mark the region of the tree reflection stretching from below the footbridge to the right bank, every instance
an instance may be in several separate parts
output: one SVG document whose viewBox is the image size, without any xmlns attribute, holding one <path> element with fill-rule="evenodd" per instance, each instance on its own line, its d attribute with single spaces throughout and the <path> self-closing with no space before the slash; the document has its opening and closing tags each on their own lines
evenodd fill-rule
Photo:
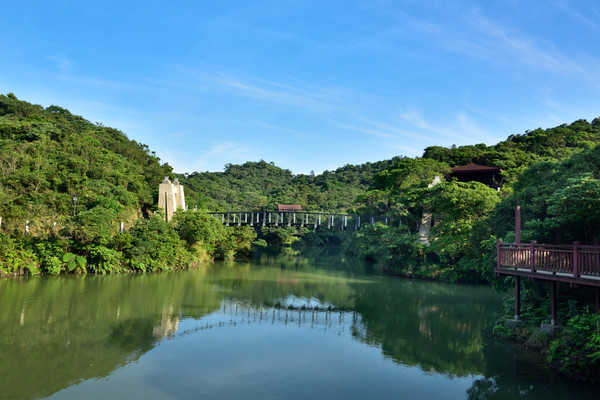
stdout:
<svg viewBox="0 0 600 400">
<path fill-rule="evenodd" d="M 482 332 L 500 311 L 490 288 L 369 277 L 338 270 L 339 262 L 325 270 L 303 260 L 265 255 L 260 261 L 270 267 L 241 265 L 220 274 L 219 284 L 257 306 L 281 307 L 293 294 L 355 311 L 362 320 L 355 337 L 402 364 L 457 376 L 485 369 Z"/>
</svg>

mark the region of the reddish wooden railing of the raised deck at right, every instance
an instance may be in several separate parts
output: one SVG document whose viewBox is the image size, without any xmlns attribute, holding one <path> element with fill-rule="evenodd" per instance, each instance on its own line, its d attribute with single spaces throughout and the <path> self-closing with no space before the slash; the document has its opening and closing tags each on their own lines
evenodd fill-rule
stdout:
<svg viewBox="0 0 600 400">
<path fill-rule="evenodd" d="M 600 246 L 548 245 L 531 243 L 497 244 L 498 270 L 518 269 L 531 274 L 568 274 L 575 279 L 600 278 Z"/>
</svg>

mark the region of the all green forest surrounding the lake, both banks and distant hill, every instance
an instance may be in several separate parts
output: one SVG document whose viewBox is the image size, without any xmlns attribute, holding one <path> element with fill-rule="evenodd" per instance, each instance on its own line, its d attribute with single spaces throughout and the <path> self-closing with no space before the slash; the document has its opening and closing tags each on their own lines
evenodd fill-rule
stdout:
<svg viewBox="0 0 600 400">
<path fill-rule="evenodd" d="M 0 95 L 0 275 L 154 271 L 248 256 L 266 244 L 336 242 L 395 274 L 487 282 L 502 290 L 512 281 L 493 275 L 495 243 L 514 240 L 516 205 L 523 209 L 523 240 L 598 241 L 599 143 L 596 118 L 510 135 L 493 146 L 432 146 L 419 158 L 346 165 L 318 175 L 293 175 L 263 160 L 227 164 L 223 172 L 175 174 L 148 146 L 117 129 L 58 106 Z M 493 187 L 453 178 L 451 167 L 472 163 L 502 168 Z M 179 177 L 187 203 L 198 211 L 165 221 L 157 210 L 164 176 Z M 430 187 L 436 176 L 441 183 Z M 206 213 L 273 210 L 277 204 L 400 223 L 356 232 L 256 232 L 222 226 Z M 418 234 L 424 213 L 435 222 L 427 241 Z M 547 287 L 524 285 L 530 324 L 517 333 L 502 325 L 495 331 L 537 338 L 535 345 L 563 372 L 600 379 L 600 320 L 586 308 L 590 291 L 561 289 L 568 294 L 559 296 L 565 329 L 551 340 L 535 336 L 534 328 L 549 315 Z"/>
</svg>

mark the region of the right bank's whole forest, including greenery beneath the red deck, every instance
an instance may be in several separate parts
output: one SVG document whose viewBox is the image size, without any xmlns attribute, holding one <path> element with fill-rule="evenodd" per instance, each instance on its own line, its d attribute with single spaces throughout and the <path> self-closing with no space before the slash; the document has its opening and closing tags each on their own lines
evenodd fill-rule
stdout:
<svg viewBox="0 0 600 400">
<path fill-rule="evenodd" d="M 600 119 L 510 136 L 495 146 L 429 147 L 423 158 L 405 159 L 375 175 L 358 198 L 364 210 L 401 217 L 400 227 L 367 226 L 347 238 L 351 253 L 406 276 L 492 283 L 514 287 L 512 278 L 493 274 L 496 240 L 515 241 L 515 207 L 522 208 L 523 241 L 594 244 L 600 239 Z M 504 169 L 501 190 L 479 182 L 453 180 L 449 167 L 470 163 Z M 433 177 L 445 177 L 428 187 Z M 417 230 L 423 213 L 435 225 L 429 244 Z M 538 348 L 564 374 L 600 381 L 600 315 L 594 290 L 563 285 L 553 337 L 539 330 L 549 322 L 550 285 L 522 283 L 521 324 L 509 329 L 500 319 L 496 335 Z M 508 291 L 510 292 L 510 290 Z M 506 313 L 512 316 L 511 299 Z"/>
</svg>

